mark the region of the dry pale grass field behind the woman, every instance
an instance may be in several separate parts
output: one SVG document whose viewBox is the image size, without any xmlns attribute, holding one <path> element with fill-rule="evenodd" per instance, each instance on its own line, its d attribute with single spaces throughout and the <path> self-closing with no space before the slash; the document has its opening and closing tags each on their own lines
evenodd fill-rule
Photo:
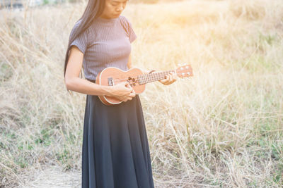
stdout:
<svg viewBox="0 0 283 188">
<path fill-rule="evenodd" d="M 67 92 L 63 67 L 85 6 L 0 10 L 0 187 L 81 170 L 86 96 Z M 156 187 L 282 187 L 282 1 L 129 2 L 123 15 L 134 65 L 194 70 L 140 95 Z"/>
</svg>

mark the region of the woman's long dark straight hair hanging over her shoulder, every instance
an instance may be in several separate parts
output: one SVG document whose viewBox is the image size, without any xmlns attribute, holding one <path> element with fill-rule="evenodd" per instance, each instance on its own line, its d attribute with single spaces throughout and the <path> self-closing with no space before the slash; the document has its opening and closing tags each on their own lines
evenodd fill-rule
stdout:
<svg viewBox="0 0 283 188">
<path fill-rule="evenodd" d="M 88 27 L 91 26 L 93 21 L 103 13 L 104 5 L 105 5 L 105 0 L 88 0 L 88 5 L 86 6 L 86 10 L 79 19 L 81 20 L 81 23 L 78 27 L 74 28 L 73 35 L 71 35 L 69 38 L 69 43 L 65 57 L 64 76 L 66 74 L 66 68 L 69 61 L 70 44 L 74 42 L 74 39 L 76 39 L 76 37 L 78 37 L 86 29 L 88 29 Z"/>
</svg>

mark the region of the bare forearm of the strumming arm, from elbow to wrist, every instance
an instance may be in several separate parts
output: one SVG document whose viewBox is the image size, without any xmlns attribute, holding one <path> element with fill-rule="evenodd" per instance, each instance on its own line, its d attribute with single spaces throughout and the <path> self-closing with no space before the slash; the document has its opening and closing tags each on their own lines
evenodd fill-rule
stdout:
<svg viewBox="0 0 283 188">
<path fill-rule="evenodd" d="M 79 92 L 81 94 L 110 96 L 112 93 L 112 89 L 109 86 L 95 84 L 80 77 L 69 78 L 68 80 L 65 80 L 65 82 L 68 90 Z"/>
</svg>

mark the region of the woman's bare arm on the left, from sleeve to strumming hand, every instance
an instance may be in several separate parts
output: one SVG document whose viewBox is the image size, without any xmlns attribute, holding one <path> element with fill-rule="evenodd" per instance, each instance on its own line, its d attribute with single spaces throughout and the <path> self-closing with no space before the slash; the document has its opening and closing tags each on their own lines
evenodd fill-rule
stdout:
<svg viewBox="0 0 283 188">
<path fill-rule="evenodd" d="M 127 87 L 127 83 L 120 83 L 110 87 L 80 78 L 79 73 L 82 65 L 83 53 L 76 46 L 72 46 L 65 74 L 65 84 L 68 90 L 82 94 L 115 96 L 122 101 L 131 100 L 134 97 L 132 94 L 133 89 Z"/>
</svg>

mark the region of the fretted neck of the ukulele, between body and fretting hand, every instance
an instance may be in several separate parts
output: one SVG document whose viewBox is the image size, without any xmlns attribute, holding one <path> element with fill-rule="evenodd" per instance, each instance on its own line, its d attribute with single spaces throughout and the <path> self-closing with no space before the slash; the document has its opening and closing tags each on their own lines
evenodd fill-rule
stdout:
<svg viewBox="0 0 283 188">
<path fill-rule="evenodd" d="M 166 78 L 166 75 L 168 75 L 171 72 L 175 72 L 175 70 L 167 70 L 163 72 L 158 72 L 158 73 L 150 73 L 150 74 L 145 74 L 145 75 L 139 75 L 137 77 L 139 84 L 147 84 L 150 82 L 155 82 L 158 80 L 163 80 Z"/>
</svg>

